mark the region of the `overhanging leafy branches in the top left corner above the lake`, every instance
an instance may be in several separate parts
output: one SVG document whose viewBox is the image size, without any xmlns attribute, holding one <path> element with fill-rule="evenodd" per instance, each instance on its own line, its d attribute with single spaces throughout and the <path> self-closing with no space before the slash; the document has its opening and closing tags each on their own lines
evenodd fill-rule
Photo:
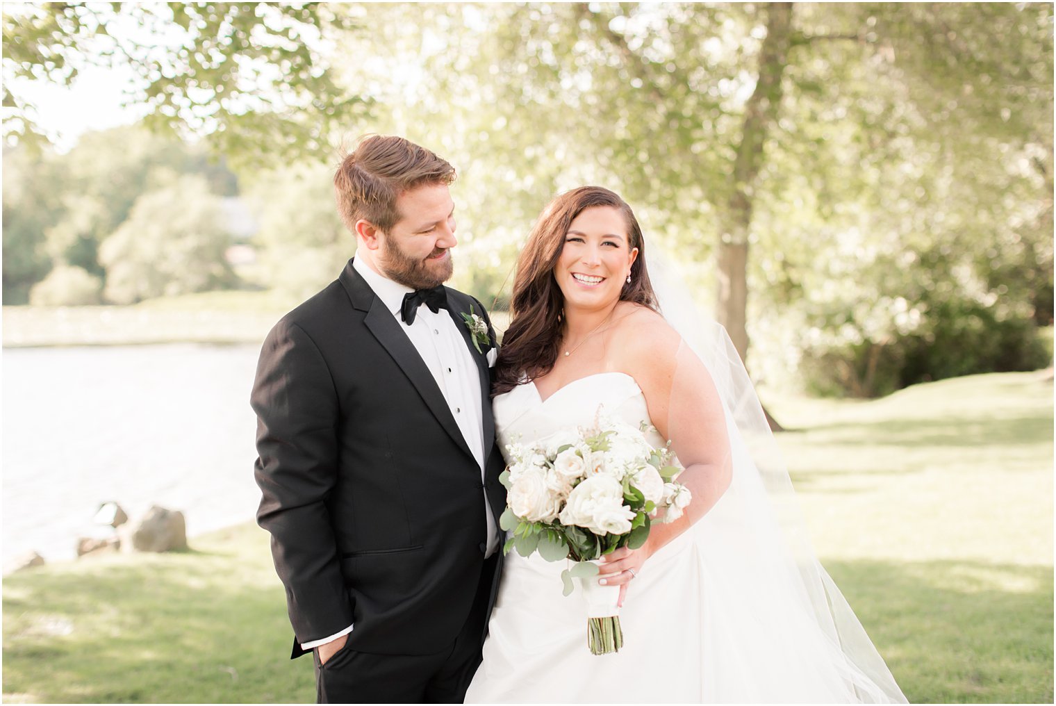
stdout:
<svg viewBox="0 0 1056 706">
<path fill-rule="evenodd" d="M 155 127 L 209 134 L 218 150 L 325 151 L 332 127 L 363 103 L 336 86 L 324 53 L 352 30 L 319 2 L 48 2 L 3 17 L 4 133 L 38 138 L 25 79 L 69 85 L 86 66 L 129 68 L 130 101 Z"/>
</svg>

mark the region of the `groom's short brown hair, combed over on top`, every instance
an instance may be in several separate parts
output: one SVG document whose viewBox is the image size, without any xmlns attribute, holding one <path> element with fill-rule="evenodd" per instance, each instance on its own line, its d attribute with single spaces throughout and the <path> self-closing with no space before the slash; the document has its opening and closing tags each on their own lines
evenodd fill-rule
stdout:
<svg viewBox="0 0 1056 706">
<path fill-rule="evenodd" d="M 450 184 L 451 164 L 409 140 L 367 135 L 341 160 L 334 174 L 334 194 L 344 225 L 356 233 L 356 221 L 370 221 L 389 233 L 401 216 L 396 199 L 426 184 Z"/>
</svg>

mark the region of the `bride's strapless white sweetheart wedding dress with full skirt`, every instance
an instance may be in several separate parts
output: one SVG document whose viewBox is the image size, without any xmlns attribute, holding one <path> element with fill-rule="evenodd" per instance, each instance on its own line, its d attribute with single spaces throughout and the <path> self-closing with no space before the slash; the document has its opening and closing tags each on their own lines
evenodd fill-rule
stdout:
<svg viewBox="0 0 1056 706">
<path fill-rule="evenodd" d="M 589 375 L 546 400 L 528 383 L 493 402 L 499 443 L 505 449 L 513 441 L 531 444 L 590 426 L 600 405 L 636 427 L 649 421 L 641 389 L 624 373 Z M 731 432 L 736 435 L 734 427 Z M 656 432 L 648 441 L 664 443 Z M 740 440 L 734 442 L 736 462 L 744 453 Z M 753 484 L 758 488 L 748 487 Z M 810 600 L 796 584 L 800 570 L 790 555 L 775 556 L 755 541 L 772 527 L 754 526 L 766 522 L 740 504 L 754 490 L 761 491 L 760 480 L 735 471 L 704 518 L 645 562 L 621 609 L 624 645 L 615 654 L 587 648 L 580 590 L 562 595 L 567 561 L 510 552 L 467 703 L 904 701 L 864 632 L 819 628 L 824 620 L 803 609 Z M 729 580 L 731 573 L 736 580 Z M 831 591 L 829 602 L 841 603 L 834 586 Z M 845 652 L 868 663 L 870 675 Z"/>
</svg>

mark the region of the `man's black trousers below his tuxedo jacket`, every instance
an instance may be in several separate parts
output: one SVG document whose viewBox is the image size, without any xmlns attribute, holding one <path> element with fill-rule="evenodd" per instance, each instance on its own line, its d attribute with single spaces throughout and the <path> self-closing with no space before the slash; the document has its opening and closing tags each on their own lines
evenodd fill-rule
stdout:
<svg viewBox="0 0 1056 706">
<path fill-rule="evenodd" d="M 473 607 L 458 636 L 435 654 L 372 654 L 341 648 L 325 665 L 315 650 L 320 704 L 460 704 L 480 665 L 497 554 L 486 559 Z M 442 607 L 439 610 L 444 610 Z"/>
</svg>

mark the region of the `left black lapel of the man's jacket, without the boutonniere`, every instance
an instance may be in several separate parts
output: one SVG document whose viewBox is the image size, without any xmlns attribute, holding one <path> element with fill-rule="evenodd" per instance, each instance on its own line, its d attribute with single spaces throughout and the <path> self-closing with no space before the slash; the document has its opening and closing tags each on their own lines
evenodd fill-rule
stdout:
<svg viewBox="0 0 1056 706">
<path fill-rule="evenodd" d="M 444 393 L 440 392 L 436 380 L 433 379 L 433 374 L 429 372 L 429 368 L 421 359 L 421 356 L 418 355 L 418 351 L 415 350 L 411 339 L 400 329 L 396 317 L 385 309 L 385 305 L 374 294 L 374 291 L 371 290 L 363 278 L 353 270 L 351 261 L 348 266 L 345 267 L 345 272 L 341 274 L 340 279 L 345 286 L 345 291 L 348 292 L 353 305 L 356 309 L 365 309 L 366 317 L 363 319 L 363 323 L 366 324 L 370 332 L 374 334 L 374 337 L 378 339 L 378 342 L 389 352 L 389 355 L 392 356 L 396 365 L 403 371 L 403 374 L 411 380 L 418 394 L 421 395 L 422 402 L 429 407 L 433 416 L 444 427 L 444 430 L 458 444 L 459 448 L 475 461 L 475 457 L 466 443 L 461 430 L 458 429 L 455 417 L 451 414 L 451 409 L 444 398 Z M 490 414 L 487 416 L 490 416 Z"/>
</svg>

